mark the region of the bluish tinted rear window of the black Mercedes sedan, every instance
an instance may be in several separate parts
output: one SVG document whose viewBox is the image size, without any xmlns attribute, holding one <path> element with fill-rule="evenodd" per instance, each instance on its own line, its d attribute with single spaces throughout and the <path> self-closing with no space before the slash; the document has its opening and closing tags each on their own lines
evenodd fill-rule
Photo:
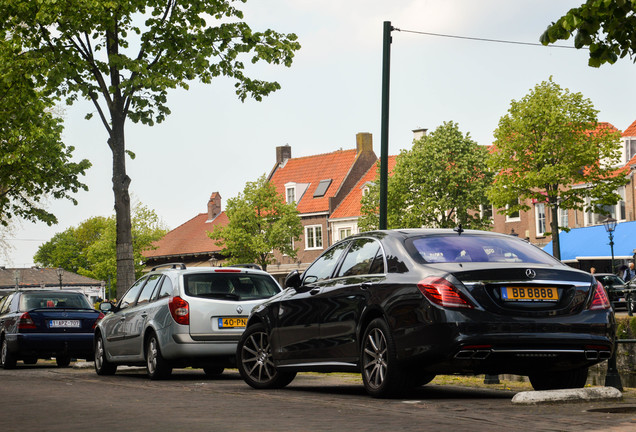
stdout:
<svg viewBox="0 0 636 432">
<path fill-rule="evenodd" d="M 427 263 L 510 262 L 554 264 L 555 259 L 529 243 L 500 236 L 457 234 L 419 237 L 410 241 L 412 254 Z"/>
</svg>

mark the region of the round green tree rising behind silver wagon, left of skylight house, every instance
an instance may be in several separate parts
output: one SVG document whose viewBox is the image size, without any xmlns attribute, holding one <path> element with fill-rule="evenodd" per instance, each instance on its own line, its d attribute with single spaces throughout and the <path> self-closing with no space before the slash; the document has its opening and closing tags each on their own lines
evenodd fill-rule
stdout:
<svg viewBox="0 0 636 432">
<path fill-rule="evenodd" d="M 215 227 L 209 236 L 224 246 L 231 264 L 256 263 L 266 270 L 274 249 L 296 257 L 292 239 L 299 240 L 303 231 L 298 210 L 283 200 L 264 175 L 229 199 L 225 213 L 228 225 Z"/>
</svg>

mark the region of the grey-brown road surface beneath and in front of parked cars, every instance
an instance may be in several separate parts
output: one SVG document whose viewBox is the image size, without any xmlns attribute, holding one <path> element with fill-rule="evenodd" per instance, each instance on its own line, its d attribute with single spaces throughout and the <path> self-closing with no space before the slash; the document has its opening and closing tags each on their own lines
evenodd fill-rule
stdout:
<svg viewBox="0 0 636 432">
<path fill-rule="evenodd" d="M 100 377 L 19 363 L 0 369 L 0 431 L 636 430 L 636 396 L 520 406 L 514 395 L 433 381 L 404 399 L 378 400 L 346 374 L 301 374 L 285 389 L 257 391 L 235 370 L 210 379 L 177 369 L 150 381 L 142 369 Z"/>
</svg>

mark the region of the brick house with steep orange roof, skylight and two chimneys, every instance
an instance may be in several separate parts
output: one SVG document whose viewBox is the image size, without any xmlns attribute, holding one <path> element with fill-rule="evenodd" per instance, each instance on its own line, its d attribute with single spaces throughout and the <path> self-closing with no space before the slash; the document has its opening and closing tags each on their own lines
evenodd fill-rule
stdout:
<svg viewBox="0 0 636 432">
<path fill-rule="evenodd" d="M 296 203 L 303 234 L 294 244 L 296 259 L 274 251 L 270 273 L 282 280 L 293 269 L 304 270 L 333 243 L 329 217 L 376 160 L 370 133 L 358 133 L 351 150 L 293 158 L 289 145 L 276 148 L 268 180 L 286 202 Z"/>
</svg>

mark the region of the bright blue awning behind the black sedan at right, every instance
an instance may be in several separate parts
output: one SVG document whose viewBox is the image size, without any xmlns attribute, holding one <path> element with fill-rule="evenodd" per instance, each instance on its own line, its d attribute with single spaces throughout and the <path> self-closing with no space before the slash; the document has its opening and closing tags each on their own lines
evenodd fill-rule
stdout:
<svg viewBox="0 0 636 432">
<path fill-rule="evenodd" d="M 561 261 L 579 261 L 582 259 L 611 259 L 609 234 L 603 225 L 584 228 L 572 228 L 569 232 L 561 232 Z M 623 222 L 616 225 L 614 231 L 614 258 L 632 259 L 636 249 L 636 221 Z M 552 254 L 552 242 L 544 251 Z"/>
</svg>

